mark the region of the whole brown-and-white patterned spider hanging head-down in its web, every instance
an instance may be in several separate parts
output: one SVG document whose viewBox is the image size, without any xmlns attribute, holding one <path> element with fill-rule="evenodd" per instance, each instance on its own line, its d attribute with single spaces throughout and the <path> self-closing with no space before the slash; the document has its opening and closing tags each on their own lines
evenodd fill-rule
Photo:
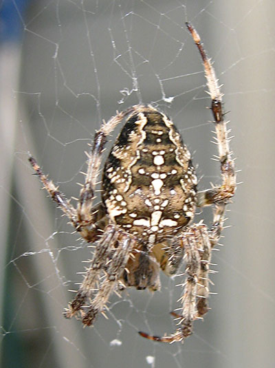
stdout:
<svg viewBox="0 0 275 368">
<path fill-rule="evenodd" d="M 94 136 L 87 154 L 85 184 L 74 208 L 47 178 L 32 157 L 30 163 L 43 188 L 67 215 L 88 243 L 96 242 L 91 264 L 65 317 L 94 324 L 107 310 L 113 292 L 133 286 L 137 290 L 160 288 L 159 269 L 175 275 L 185 261 L 185 282 L 180 301 L 179 327 L 162 337 L 139 332 L 163 343 L 184 342 L 193 323 L 208 312 L 209 263 L 212 248 L 223 229 L 225 206 L 236 188 L 230 157 L 222 94 L 199 34 L 186 23 L 203 61 L 217 133 L 221 185 L 197 191 L 197 176 L 190 152 L 173 122 L 151 105 L 135 105 L 118 112 Z M 102 175 L 102 201 L 95 205 L 95 190 L 107 137 L 126 120 L 115 140 Z M 214 206 L 212 226 L 192 224 L 197 207 Z"/>
</svg>

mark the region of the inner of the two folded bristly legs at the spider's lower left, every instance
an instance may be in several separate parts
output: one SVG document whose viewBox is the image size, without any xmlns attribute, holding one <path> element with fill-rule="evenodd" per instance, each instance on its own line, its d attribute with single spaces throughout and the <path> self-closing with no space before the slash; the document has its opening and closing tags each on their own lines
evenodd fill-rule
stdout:
<svg viewBox="0 0 275 368">
<path fill-rule="evenodd" d="M 89 307 L 87 307 L 87 309 L 85 308 L 85 311 L 81 311 L 84 325 L 92 325 L 98 312 L 102 312 L 104 307 L 106 307 L 106 303 L 109 300 L 111 293 L 118 287 L 121 274 L 124 272 L 126 263 L 131 255 L 131 250 L 135 245 L 136 240 L 131 235 L 122 232 L 121 230 L 117 230 L 117 232 L 118 246 L 115 248 L 109 259 L 108 267 L 104 272 L 104 281 L 100 283 L 98 293 L 91 301 Z M 109 244 L 109 246 L 111 246 L 111 244 Z"/>
</svg>

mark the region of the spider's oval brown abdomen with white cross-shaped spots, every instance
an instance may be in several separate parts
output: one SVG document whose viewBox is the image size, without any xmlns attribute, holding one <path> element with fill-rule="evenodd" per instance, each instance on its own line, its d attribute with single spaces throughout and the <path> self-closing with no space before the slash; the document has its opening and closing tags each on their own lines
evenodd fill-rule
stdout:
<svg viewBox="0 0 275 368">
<path fill-rule="evenodd" d="M 111 220 L 151 243 L 175 234 L 195 213 L 197 176 L 168 117 L 140 107 L 126 120 L 104 167 L 103 200 Z"/>
</svg>

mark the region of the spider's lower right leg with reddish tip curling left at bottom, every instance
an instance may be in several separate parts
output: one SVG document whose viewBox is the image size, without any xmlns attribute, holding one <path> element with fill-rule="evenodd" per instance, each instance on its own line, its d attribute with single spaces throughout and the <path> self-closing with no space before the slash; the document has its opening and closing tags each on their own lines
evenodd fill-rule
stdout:
<svg viewBox="0 0 275 368">
<path fill-rule="evenodd" d="M 204 226 L 191 226 L 190 228 L 186 228 L 184 234 L 181 235 L 182 246 L 185 251 L 184 258 L 186 259 L 186 281 L 183 284 L 184 294 L 179 299 L 182 305 L 179 329 L 177 329 L 175 334 L 162 337 L 152 336 L 145 332 L 139 332 L 142 337 L 148 338 L 149 340 L 159 341 L 161 343 L 174 343 L 175 341 L 184 342 L 185 338 L 192 334 L 193 322 L 200 314 L 197 310 L 197 294 L 198 288 L 200 288 L 200 292 L 201 289 L 204 288 L 203 284 L 200 282 L 201 275 L 203 274 L 203 264 L 208 263 L 204 259 L 203 262 L 201 262 L 200 252 L 202 255 L 205 253 L 203 251 L 205 246 L 202 244 L 204 239 L 201 236 L 201 227 Z M 205 235 L 208 237 L 207 232 Z M 199 307 L 201 307 L 201 305 L 199 305 Z"/>
</svg>

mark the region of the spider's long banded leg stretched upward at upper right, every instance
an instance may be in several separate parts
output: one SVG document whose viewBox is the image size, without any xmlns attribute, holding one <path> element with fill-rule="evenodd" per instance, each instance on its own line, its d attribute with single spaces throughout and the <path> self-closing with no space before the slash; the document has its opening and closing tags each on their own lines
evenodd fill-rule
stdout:
<svg viewBox="0 0 275 368">
<path fill-rule="evenodd" d="M 204 72 L 206 74 L 206 80 L 208 85 L 209 94 L 212 100 L 211 110 L 214 116 L 214 127 L 217 134 L 217 145 L 219 149 L 219 161 L 221 162 L 221 186 L 210 188 L 206 191 L 198 193 L 198 206 L 211 206 L 212 204 L 220 202 L 228 202 L 228 200 L 234 195 L 236 189 L 236 174 L 234 171 L 234 161 L 230 155 L 228 131 L 226 124 L 223 120 L 225 113 L 222 109 L 222 94 L 220 86 L 218 85 L 218 79 L 214 73 L 214 68 L 211 65 L 206 51 L 203 48 L 201 39 L 197 31 L 186 23 L 186 26 L 192 35 L 195 44 L 201 54 L 203 61 Z"/>
</svg>

